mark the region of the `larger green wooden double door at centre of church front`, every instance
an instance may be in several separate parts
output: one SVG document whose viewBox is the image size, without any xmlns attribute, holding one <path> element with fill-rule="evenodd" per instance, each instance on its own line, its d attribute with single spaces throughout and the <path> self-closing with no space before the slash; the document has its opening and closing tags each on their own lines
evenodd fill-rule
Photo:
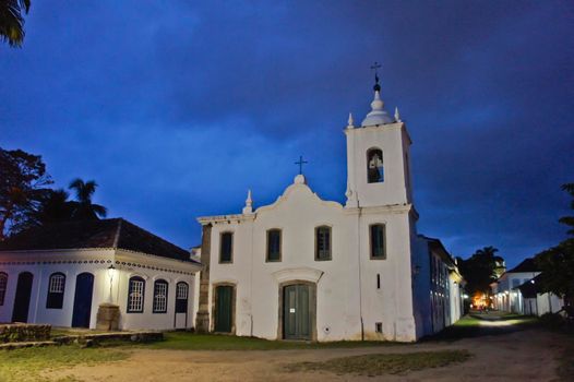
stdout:
<svg viewBox="0 0 574 382">
<path fill-rule="evenodd" d="M 311 339 L 310 293 L 308 285 L 289 285 L 283 295 L 285 339 Z"/>
</svg>

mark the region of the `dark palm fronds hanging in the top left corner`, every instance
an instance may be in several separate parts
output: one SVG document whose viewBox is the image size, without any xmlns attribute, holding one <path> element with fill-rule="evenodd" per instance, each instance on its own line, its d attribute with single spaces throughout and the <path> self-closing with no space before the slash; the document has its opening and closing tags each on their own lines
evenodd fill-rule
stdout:
<svg viewBox="0 0 574 382">
<path fill-rule="evenodd" d="M 0 0 L 0 39 L 11 47 L 21 47 L 24 41 L 24 17 L 31 0 Z"/>
</svg>

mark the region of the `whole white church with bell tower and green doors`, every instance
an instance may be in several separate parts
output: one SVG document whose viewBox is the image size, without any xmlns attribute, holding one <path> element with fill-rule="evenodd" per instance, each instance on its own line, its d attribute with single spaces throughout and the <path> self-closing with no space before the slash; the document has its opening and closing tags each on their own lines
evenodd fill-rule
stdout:
<svg viewBox="0 0 574 382">
<path fill-rule="evenodd" d="M 268 339 L 417 341 L 461 315 L 456 263 L 417 234 L 410 136 L 379 83 L 360 126 L 349 116 L 346 203 L 302 175 L 277 201 L 206 216 L 196 329 Z"/>
</svg>

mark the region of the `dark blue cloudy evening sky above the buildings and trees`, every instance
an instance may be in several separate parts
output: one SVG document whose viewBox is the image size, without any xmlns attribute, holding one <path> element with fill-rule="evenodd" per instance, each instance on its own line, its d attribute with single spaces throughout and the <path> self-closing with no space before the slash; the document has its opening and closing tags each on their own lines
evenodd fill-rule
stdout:
<svg viewBox="0 0 574 382">
<path fill-rule="evenodd" d="M 512 266 L 565 237 L 572 36 L 569 1 L 33 1 L 23 48 L 0 46 L 0 145 L 190 247 L 248 188 L 274 201 L 299 154 L 343 201 L 342 130 L 376 60 L 414 141 L 419 231 Z"/>
</svg>

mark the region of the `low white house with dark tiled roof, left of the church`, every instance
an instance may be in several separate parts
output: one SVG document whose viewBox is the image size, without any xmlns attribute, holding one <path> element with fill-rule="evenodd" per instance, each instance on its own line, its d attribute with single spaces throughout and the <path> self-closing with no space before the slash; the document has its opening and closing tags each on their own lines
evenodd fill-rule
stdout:
<svg viewBox="0 0 574 382">
<path fill-rule="evenodd" d="M 121 218 L 33 228 L 0 246 L 0 322 L 189 329 L 200 268 Z"/>
</svg>

